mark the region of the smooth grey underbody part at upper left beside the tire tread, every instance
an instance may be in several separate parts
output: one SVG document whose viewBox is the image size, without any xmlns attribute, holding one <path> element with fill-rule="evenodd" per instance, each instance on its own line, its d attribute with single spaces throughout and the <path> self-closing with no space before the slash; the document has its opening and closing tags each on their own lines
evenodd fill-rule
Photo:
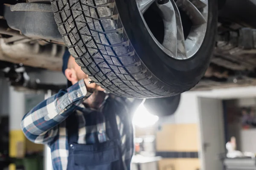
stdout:
<svg viewBox="0 0 256 170">
<path fill-rule="evenodd" d="M 3 15 L 10 28 L 26 37 L 64 44 L 50 4 L 17 3 L 4 6 Z"/>
</svg>

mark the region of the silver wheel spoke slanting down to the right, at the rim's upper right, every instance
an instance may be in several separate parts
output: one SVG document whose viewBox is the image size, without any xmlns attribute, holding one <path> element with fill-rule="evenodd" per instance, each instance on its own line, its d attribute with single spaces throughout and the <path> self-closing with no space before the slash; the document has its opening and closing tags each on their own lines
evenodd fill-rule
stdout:
<svg viewBox="0 0 256 170">
<path fill-rule="evenodd" d="M 202 25 L 207 22 L 201 12 L 198 11 L 198 8 L 189 0 L 177 0 L 176 4 L 188 14 L 195 26 Z"/>
</svg>

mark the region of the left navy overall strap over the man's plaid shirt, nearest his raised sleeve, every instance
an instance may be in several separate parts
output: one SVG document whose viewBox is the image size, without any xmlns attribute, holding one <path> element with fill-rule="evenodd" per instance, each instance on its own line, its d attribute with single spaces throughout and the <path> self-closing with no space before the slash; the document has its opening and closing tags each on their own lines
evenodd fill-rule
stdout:
<svg viewBox="0 0 256 170">
<path fill-rule="evenodd" d="M 66 126 L 67 126 L 67 137 L 68 137 L 68 143 L 77 143 L 78 140 L 78 121 L 76 117 L 76 111 L 72 113 L 67 119 L 66 119 Z"/>
</svg>

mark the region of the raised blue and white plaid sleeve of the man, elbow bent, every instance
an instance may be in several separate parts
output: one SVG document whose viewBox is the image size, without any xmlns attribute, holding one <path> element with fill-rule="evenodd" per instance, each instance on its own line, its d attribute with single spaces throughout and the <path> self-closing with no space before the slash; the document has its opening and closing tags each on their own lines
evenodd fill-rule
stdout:
<svg viewBox="0 0 256 170">
<path fill-rule="evenodd" d="M 88 95 L 84 80 L 39 103 L 22 121 L 25 136 L 34 143 L 49 144 L 58 135 L 58 125 L 73 113 Z"/>
</svg>

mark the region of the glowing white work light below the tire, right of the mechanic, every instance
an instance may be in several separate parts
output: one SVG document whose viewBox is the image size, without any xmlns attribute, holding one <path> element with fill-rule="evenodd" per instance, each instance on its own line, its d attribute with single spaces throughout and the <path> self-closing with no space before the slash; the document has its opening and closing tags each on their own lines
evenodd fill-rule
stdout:
<svg viewBox="0 0 256 170">
<path fill-rule="evenodd" d="M 149 113 L 144 105 L 140 105 L 134 113 L 132 123 L 138 127 L 149 127 L 154 125 L 158 119 L 158 116 Z"/>
</svg>

